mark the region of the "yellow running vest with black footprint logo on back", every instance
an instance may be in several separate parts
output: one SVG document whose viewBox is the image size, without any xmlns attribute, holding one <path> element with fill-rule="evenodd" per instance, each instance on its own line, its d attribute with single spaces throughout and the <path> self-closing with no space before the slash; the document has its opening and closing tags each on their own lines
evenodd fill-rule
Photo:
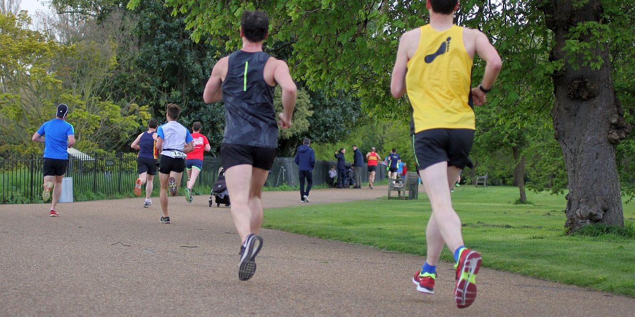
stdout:
<svg viewBox="0 0 635 317">
<path fill-rule="evenodd" d="M 463 28 L 439 32 L 421 27 L 419 47 L 408 61 L 406 89 L 412 104 L 413 133 L 428 129 L 472 129 L 472 58 L 465 51 Z"/>
</svg>

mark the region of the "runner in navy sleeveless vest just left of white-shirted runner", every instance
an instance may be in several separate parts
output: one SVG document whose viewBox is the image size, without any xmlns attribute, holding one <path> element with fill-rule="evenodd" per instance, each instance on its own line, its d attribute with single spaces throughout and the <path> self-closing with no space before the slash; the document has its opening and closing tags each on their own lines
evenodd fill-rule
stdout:
<svg viewBox="0 0 635 317">
<path fill-rule="evenodd" d="M 156 119 L 150 119 L 148 121 L 148 130 L 139 134 L 137 139 L 130 145 L 131 148 L 139 150 L 137 157 L 137 174 L 139 178 L 135 181 L 135 195 L 141 195 L 141 186 L 145 184 L 144 208 L 152 205 L 152 200 L 150 199 L 154 186 L 152 181 L 154 181 L 154 176 L 157 174 L 157 157 L 159 154 L 156 147 L 158 125 Z"/>
</svg>

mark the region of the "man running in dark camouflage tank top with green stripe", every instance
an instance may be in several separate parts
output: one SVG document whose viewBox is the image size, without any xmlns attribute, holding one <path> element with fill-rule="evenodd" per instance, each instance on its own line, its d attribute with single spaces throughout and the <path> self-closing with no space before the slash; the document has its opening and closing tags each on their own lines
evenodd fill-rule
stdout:
<svg viewBox="0 0 635 317">
<path fill-rule="evenodd" d="M 240 36 L 243 48 L 221 58 L 211 71 L 203 100 L 225 103 L 225 133 L 220 159 L 225 168 L 231 213 L 241 238 L 238 278 L 249 280 L 262 247 L 262 186 L 276 157 L 277 126 L 291 127 L 297 88 L 289 67 L 262 51 L 269 36 L 269 18 L 260 11 L 244 11 Z M 282 89 L 284 111 L 274 110 L 274 87 Z"/>
</svg>

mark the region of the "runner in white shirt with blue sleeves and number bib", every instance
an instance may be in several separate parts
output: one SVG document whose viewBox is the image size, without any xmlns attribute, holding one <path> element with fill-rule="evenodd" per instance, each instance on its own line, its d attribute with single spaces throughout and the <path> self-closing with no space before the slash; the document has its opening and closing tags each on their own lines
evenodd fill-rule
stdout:
<svg viewBox="0 0 635 317">
<path fill-rule="evenodd" d="M 159 183 L 161 184 L 161 209 L 163 217 L 161 223 L 170 223 L 168 216 L 168 193 L 170 190 L 172 196 L 177 195 L 178 183 L 185 169 L 185 153 L 194 150 L 192 145 L 192 136 L 187 129 L 177 122 L 181 108 L 178 105 L 170 103 L 166 110 L 166 119 L 168 123 L 157 129 L 157 148 L 161 151 L 161 162 L 159 163 Z"/>
</svg>

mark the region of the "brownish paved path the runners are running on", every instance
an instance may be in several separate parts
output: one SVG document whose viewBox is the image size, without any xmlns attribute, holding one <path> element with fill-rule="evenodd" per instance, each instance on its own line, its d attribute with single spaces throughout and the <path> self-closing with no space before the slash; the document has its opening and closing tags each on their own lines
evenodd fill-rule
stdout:
<svg viewBox="0 0 635 317">
<path fill-rule="evenodd" d="M 315 190 L 311 204 L 374 199 L 368 190 Z M 297 206 L 296 192 L 264 193 L 265 208 Z M 439 264 L 436 294 L 415 290 L 422 257 L 263 230 L 258 271 L 237 278 L 229 209 L 171 198 L 0 205 L 0 316 L 633 316 L 635 299 L 481 269 L 467 309 Z M 293 219 L 290 219 L 293 221 Z"/>
</svg>

